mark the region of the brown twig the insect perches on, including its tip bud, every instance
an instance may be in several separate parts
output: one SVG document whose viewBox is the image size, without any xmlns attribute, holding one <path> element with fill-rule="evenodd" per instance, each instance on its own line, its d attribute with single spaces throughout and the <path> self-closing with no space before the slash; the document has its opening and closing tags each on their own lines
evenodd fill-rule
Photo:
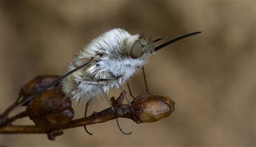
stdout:
<svg viewBox="0 0 256 147">
<path fill-rule="evenodd" d="M 161 118 L 169 116 L 173 112 L 174 102 L 168 97 L 159 97 L 161 97 L 161 100 L 156 99 L 155 97 L 137 97 L 132 101 L 131 106 L 133 107 L 136 121 L 139 121 L 140 123 L 156 122 Z M 122 103 L 123 98 L 124 97 L 120 95 L 119 99 L 115 100 L 114 107 L 116 107 L 116 110 L 118 111 L 118 117 L 130 118 L 134 121 L 134 117 L 129 105 L 120 104 Z M 111 99 L 111 101 L 114 102 L 113 99 Z M 22 112 L 9 118 L 8 122 L 12 122 L 17 118 L 21 118 L 22 116 L 26 115 L 27 114 L 25 112 Z M 53 134 L 53 136 L 49 137 L 49 139 L 53 137 L 51 138 L 53 140 L 56 136 L 63 134 L 62 130 L 82 127 L 84 125 L 95 123 L 103 123 L 114 119 L 116 119 L 116 115 L 113 113 L 113 110 L 111 108 L 107 108 L 98 113 L 93 113 L 91 116 L 72 120 L 71 122 L 51 131 L 39 128 L 36 125 L 7 125 L 0 128 L 0 134 L 48 134 L 48 137 L 49 134 Z"/>
</svg>

